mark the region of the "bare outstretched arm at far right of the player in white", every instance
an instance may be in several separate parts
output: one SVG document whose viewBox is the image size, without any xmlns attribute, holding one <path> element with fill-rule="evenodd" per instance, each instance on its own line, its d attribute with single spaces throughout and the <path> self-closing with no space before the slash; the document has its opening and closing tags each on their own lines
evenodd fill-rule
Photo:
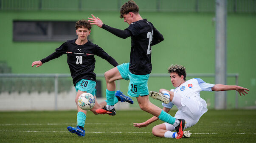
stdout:
<svg viewBox="0 0 256 143">
<path fill-rule="evenodd" d="M 245 95 L 245 93 L 248 94 L 248 92 L 246 92 L 246 91 L 250 91 L 249 89 L 244 88 L 242 86 L 223 85 L 223 84 L 215 84 L 211 89 L 212 89 L 212 91 L 216 91 L 216 92 L 226 91 L 226 90 L 236 90 L 237 92 L 239 92 L 240 96 L 242 96 L 242 94 Z"/>
</svg>

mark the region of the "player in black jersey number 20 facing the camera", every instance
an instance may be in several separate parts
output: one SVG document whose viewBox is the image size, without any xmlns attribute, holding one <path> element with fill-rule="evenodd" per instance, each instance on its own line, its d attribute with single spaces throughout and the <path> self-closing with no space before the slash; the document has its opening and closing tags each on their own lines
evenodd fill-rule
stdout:
<svg viewBox="0 0 256 143">
<path fill-rule="evenodd" d="M 77 100 L 79 95 L 82 93 L 88 92 L 90 94 L 96 94 L 96 74 L 93 72 L 95 67 L 95 58 L 94 55 L 101 57 L 102 59 L 106 59 L 111 65 L 116 67 L 118 63 L 108 55 L 103 49 L 101 49 L 98 45 L 93 44 L 90 40 L 87 40 L 88 35 L 90 35 L 91 29 L 90 22 L 86 20 L 79 20 L 76 22 L 76 35 L 78 38 L 73 40 L 68 40 L 63 43 L 59 48 L 56 49 L 53 54 L 48 57 L 35 61 L 32 63 L 32 67 L 37 65 L 37 67 L 41 66 L 43 63 L 48 62 L 52 59 L 60 57 L 62 54 L 67 54 L 68 57 L 68 66 L 70 68 L 70 73 L 73 78 L 73 84 L 76 87 L 76 105 L 77 105 L 77 127 L 68 127 L 68 130 L 72 133 L 76 133 L 79 136 L 84 136 L 84 123 L 86 119 L 87 111 L 79 108 L 77 104 Z M 95 100 L 96 100 L 96 96 Z M 133 103 L 131 98 L 127 98 L 124 95 L 117 95 L 115 97 L 115 103 L 118 101 L 121 102 L 129 102 Z M 96 109 L 102 108 L 103 105 L 106 105 L 106 102 L 102 102 L 98 104 L 97 100 L 95 106 L 90 110 L 94 114 L 96 113 Z"/>
</svg>

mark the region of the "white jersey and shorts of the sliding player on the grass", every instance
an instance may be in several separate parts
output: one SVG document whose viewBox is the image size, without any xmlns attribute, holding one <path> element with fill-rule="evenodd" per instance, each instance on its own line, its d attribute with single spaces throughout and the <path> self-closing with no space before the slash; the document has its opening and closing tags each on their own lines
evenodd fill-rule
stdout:
<svg viewBox="0 0 256 143">
<path fill-rule="evenodd" d="M 208 110 L 207 104 L 203 98 L 200 97 L 201 91 L 211 92 L 211 88 L 214 84 L 205 83 L 200 78 L 192 78 L 176 89 L 171 89 L 174 92 L 174 96 L 180 96 L 180 102 L 182 107 L 175 114 L 177 119 L 186 120 L 186 128 L 193 126 L 199 121 L 200 117 Z M 172 108 L 173 103 L 162 103 L 166 108 Z"/>
</svg>

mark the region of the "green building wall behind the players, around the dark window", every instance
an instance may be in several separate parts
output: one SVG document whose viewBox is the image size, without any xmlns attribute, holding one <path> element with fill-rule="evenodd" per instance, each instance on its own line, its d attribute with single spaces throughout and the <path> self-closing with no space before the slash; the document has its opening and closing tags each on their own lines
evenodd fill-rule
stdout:
<svg viewBox="0 0 256 143">
<path fill-rule="evenodd" d="M 119 18 L 118 11 L 0 11 L 0 61 L 6 61 L 12 73 L 70 73 L 66 56 L 31 67 L 31 63 L 51 54 L 63 42 L 14 42 L 13 20 L 77 21 L 93 13 L 105 24 L 115 28 L 128 27 Z M 215 22 L 214 13 L 140 12 L 162 33 L 164 41 L 152 47 L 152 73 L 166 73 L 166 78 L 149 78 L 149 90 L 172 89 L 167 68 L 181 64 L 187 73 L 214 73 Z M 239 108 L 256 105 L 256 15 L 228 13 L 227 16 L 227 73 L 239 73 L 239 85 L 250 89 L 246 96 L 239 96 Z M 74 28 L 75 32 L 75 28 Z M 93 43 L 101 46 L 121 64 L 129 62 L 130 38 L 118 38 L 106 30 L 93 26 Z M 104 59 L 96 57 L 95 73 L 112 68 Z M 200 77 L 187 77 L 200 78 Z M 214 84 L 214 78 L 202 78 Z M 104 78 L 102 91 L 106 89 Z M 127 93 L 129 81 L 120 81 L 121 90 Z M 234 85 L 229 77 L 227 84 Z M 227 92 L 227 108 L 235 107 L 235 91 Z M 104 94 L 104 93 L 103 93 Z M 214 92 L 201 92 L 209 108 L 214 108 Z M 135 100 L 135 99 L 134 99 Z M 153 101 L 160 106 L 160 101 Z M 132 105 L 138 107 L 138 104 Z"/>
</svg>

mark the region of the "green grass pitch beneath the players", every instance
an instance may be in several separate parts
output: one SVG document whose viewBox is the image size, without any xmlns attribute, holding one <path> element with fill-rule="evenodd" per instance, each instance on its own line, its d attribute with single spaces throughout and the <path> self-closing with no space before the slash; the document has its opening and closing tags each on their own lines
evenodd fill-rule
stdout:
<svg viewBox="0 0 256 143">
<path fill-rule="evenodd" d="M 175 111 L 169 112 L 174 115 Z M 256 110 L 210 110 L 191 128 L 191 138 L 158 138 L 151 134 L 155 121 L 148 127 L 135 128 L 132 123 L 149 119 L 143 111 L 117 111 L 116 116 L 87 113 L 85 137 L 70 133 L 76 126 L 76 111 L 0 112 L 0 142 L 60 143 L 256 143 Z"/>
</svg>

